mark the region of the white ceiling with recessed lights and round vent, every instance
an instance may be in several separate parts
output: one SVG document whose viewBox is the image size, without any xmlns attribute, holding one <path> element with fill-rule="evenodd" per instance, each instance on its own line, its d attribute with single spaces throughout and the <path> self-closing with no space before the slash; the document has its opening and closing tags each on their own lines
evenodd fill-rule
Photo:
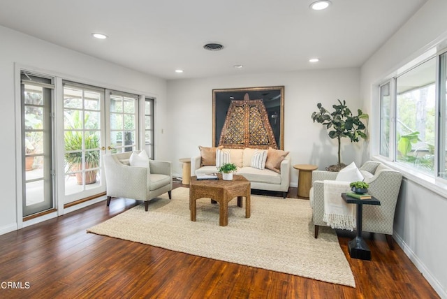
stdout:
<svg viewBox="0 0 447 299">
<path fill-rule="evenodd" d="M 361 66 L 426 1 L 1 0 L 0 25 L 171 80 Z"/>
</svg>

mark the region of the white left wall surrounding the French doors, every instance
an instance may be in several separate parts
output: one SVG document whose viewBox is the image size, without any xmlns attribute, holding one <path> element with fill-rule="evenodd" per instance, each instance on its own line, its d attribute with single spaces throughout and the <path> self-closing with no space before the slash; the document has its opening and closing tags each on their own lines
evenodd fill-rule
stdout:
<svg viewBox="0 0 447 299">
<path fill-rule="evenodd" d="M 15 64 L 29 66 L 53 75 L 78 78 L 92 85 L 138 92 L 156 97 L 156 115 L 167 115 L 166 81 L 85 54 L 80 54 L 17 31 L 0 27 L 0 128 L 2 170 L 0 172 L 1 209 L 0 234 L 17 228 L 16 212 L 16 156 L 15 148 Z M 166 127 L 166 118 L 156 118 L 156 128 Z M 159 159 L 169 159 L 165 135 L 156 133 L 156 154 Z"/>
</svg>

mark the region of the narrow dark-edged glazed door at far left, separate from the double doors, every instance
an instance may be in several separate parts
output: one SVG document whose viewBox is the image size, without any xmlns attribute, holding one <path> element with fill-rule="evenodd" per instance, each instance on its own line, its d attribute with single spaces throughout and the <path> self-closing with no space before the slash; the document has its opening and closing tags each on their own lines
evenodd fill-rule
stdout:
<svg viewBox="0 0 447 299">
<path fill-rule="evenodd" d="M 21 73 L 22 215 L 54 207 L 52 78 Z"/>
</svg>

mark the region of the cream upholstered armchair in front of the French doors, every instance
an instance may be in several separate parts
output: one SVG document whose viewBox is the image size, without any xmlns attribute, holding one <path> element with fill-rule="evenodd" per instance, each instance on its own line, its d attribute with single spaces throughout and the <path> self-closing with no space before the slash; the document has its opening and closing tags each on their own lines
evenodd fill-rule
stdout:
<svg viewBox="0 0 447 299">
<path fill-rule="evenodd" d="M 173 189 L 170 162 L 149 160 L 149 168 L 133 167 L 129 165 L 131 154 L 124 152 L 103 156 L 107 206 L 112 197 L 124 197 L 144 201 L 147 211 L 152 198 L 168 192 L 170 199 Z"/>
</svg>

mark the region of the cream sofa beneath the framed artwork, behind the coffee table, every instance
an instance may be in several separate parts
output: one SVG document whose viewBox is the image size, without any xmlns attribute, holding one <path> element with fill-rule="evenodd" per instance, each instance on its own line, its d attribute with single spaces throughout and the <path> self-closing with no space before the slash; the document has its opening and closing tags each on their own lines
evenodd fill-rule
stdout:
<svg viewBox="0 0 447 299">
<path fill-rule="evenodd" d="M 230 152 L 230 162 L 237 166 L 236 175 L 243 175 L 251 182 L 251 189 L 269 190 L 282 192 L 286 198 L 290 184 L 291 159 L 290 154 L 281 161 L 280 173 L 268 168 L 258 169 L 250 166 L 251 157 L 258 149 L 223 149 Z M 215 161 L 214 161 L 215 163 Z M 191 158 L 191 176 L 204 173 L 217 173 L 216 165 L 202 165 L 202 156 Z"/>
</svg>

